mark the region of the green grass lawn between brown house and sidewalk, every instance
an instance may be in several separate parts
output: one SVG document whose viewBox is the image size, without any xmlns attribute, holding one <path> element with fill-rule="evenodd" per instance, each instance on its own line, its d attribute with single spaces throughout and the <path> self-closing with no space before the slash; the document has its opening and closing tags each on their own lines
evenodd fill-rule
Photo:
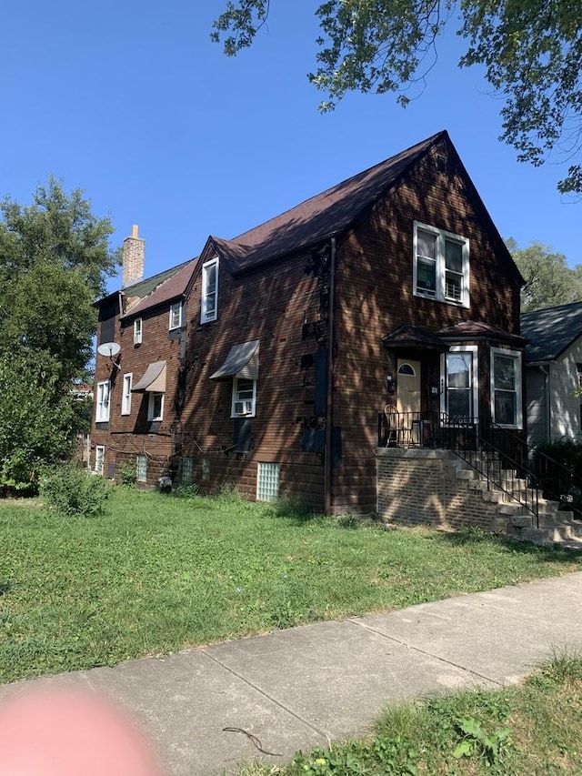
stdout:
<svg viewBox="0 0 582 776">
<path fill-rule="evenodd" d="M 0 501 L 0 682 L 579 570 L 426 529 L 351 529 L 233 496 L 117 488 L 101 517 Z"/>
</svg>

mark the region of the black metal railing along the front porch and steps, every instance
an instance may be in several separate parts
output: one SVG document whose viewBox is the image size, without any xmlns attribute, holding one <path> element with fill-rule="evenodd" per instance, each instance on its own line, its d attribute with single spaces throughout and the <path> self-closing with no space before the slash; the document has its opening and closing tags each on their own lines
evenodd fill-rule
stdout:
<svg viewBox="0 0 582 776">
<path fill-rule="evenodd" d="M 527 509 L 537 527 L 539 494 L 564 502 L 572 490 L 572 473 L 567 467 L 537 453 L 517 434 L 489 418 L 393 411 L 378 414 L 377 430 L 379 447 L 451 450 L 479 473 L 488 489 L 501 490 L 508 499 Z M 552 483 L 557 486 L 550 487 Z"/>
</svg>

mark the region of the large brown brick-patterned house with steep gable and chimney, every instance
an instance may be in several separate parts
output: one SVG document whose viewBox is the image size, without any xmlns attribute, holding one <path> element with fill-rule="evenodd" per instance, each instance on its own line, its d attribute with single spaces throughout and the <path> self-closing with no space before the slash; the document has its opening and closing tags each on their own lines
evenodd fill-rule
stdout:
<svg viewBox="0 0 582 776">
<path fill-rule="evenodd" d="M 140 246 L 135 230 L 127 255 Z M 180 267 L 126 274 L 98 303 L 99 344 L 121 347 L 96 359 L 105 476 L 131 459 L 152 485 L 367 512 L 386 404 L 419 447 L 442 418 L 523 428 L 522 278 L 446 132 Z"/>
</svg>

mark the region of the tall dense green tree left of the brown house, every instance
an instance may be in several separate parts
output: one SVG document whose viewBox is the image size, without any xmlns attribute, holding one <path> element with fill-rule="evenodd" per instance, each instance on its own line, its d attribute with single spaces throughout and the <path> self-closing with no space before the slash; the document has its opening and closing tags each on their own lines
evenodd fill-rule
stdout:
<svg viewBox="0 0 582 776">
<path fill-rule="evenodd" d="M 0 205 L 0 492 L 35 489 L 85 418 L 71 389 L 93 353 L 96 311 L 118 255 L 83 192 L 49 178 L 33 204 Z"/>
</svg>

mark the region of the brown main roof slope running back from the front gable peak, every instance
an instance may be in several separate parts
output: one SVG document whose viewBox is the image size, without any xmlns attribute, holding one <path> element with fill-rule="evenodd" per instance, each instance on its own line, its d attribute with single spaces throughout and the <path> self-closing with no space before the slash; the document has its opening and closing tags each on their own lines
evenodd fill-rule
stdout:
<svg viewBox="0 0 582 776">
<path fill-rule="evenodd" d="M 388 189 L 409 167 L 442 140 L 450 144 L 447 132 L 428 137 L 232 240 L 220 237 L 210 240 L 234 272 L 315 245 L 349 227 L 366 208 L 373 207 L 386 196 Z"/>
</svg>

